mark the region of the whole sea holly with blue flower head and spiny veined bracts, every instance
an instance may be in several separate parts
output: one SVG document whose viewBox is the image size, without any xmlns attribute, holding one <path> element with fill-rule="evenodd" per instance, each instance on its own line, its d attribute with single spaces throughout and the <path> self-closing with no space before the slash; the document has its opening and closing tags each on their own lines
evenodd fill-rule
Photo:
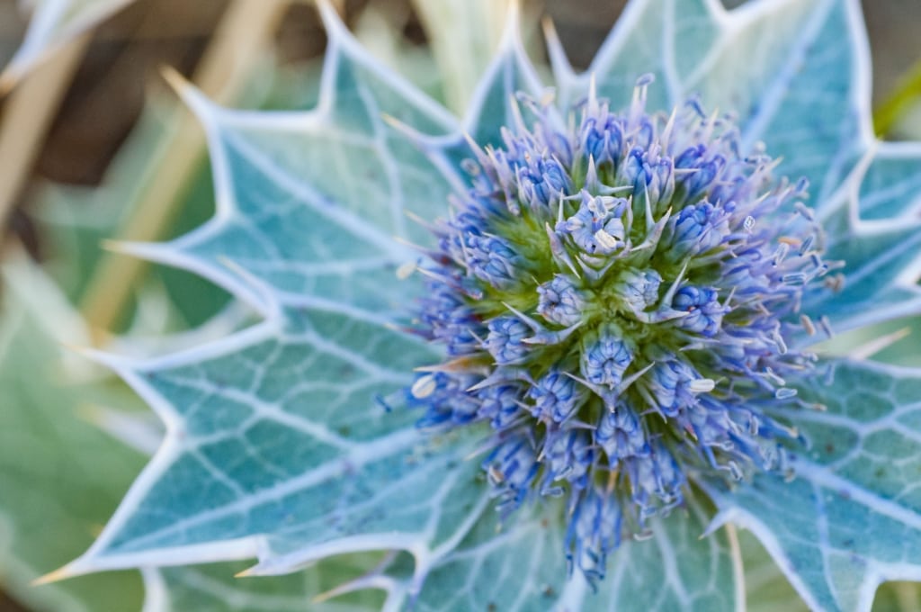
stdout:
<svg viewBox="0 0 921 612">
<path fill-rule="evenodd" d="M 806 604 L 921 580 L 921 147 L 876 142 L 857 1 L 635 0 L 584 74 L 517 17 L 457 120 L 328 6 L 310 112 L 222 109 L 216 216 L 122 248 L 258 324 L 97 359 L 166 441 L 52 577 L 377 551 L 387 609 L 740 609 L 736 526 Z M 258 578 L 247 578 L 258 580 Z"/>
</svg>

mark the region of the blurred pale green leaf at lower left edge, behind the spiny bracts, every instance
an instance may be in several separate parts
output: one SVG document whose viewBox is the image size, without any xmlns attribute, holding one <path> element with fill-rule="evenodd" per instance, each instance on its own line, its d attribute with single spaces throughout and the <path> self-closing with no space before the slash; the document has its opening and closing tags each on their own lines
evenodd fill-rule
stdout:
<svg viewBox="0 0 921 612">
<path fill-rule="evenodd" d="M 87 547 L 144 458 L 80 417 L 86 405 L 138 402 L 121 386 L 65 382 L 65 367 L 79 365 L 82 359 L 73 361 L 75 356 L 65 355 L 60 347 L 61 338 L 49 335 L 48 330 L 65 329 L 73 319 L 72 313 L 64 312 L 62 297 L 27 265 L 7 266 L 4 277 L 0 582 L 37 611 L 138 609 L 142 586 L 134 572 L 29 586 Z"/>
</svg>

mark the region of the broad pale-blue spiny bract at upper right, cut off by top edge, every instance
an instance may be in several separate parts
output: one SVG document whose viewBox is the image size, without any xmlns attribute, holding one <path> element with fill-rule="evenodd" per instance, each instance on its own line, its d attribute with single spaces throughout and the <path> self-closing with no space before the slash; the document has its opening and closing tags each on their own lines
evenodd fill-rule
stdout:
<svg viewBox="0 0 921 612">
<path fill-rule="evenodd" d="M 736 116 L 742 144 L 764 141 L 779 171 L 810 180 L 823 202 L 868 146 L 869 58 L 857 2 L 758 0 L 732 11 L 717 0 L 639 0 L 624 9 L 589 70 L 556 53 L 564 100 L 599 95 L 623 108 L 652 74 L 652 109 L 699 96 Z"/>
</svg>

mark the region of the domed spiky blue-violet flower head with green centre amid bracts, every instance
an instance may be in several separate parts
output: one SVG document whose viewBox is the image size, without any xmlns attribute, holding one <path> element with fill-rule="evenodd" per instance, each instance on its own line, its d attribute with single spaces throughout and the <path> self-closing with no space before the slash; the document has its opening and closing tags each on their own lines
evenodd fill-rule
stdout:
<svg viewBox="0 0 921 612">
<path fill-rule="evenodd" d="M 805 182 L 694 100 L 647 112 L 649 81 L 625 112 L 589 95 L 568 122 L 523 100 L 531 124 L 471 144 L 423 270 L 418 329 L 447 358 L 412 390 L 422 422 L 488 422 L 500 511 L 565 496 L 589 577 L 691 481 L 785 469 L 795 432 L 763 408 L 796 402 L 785 379 L 814 358 L 790 322 L 830 267 Z"/>
</svg>

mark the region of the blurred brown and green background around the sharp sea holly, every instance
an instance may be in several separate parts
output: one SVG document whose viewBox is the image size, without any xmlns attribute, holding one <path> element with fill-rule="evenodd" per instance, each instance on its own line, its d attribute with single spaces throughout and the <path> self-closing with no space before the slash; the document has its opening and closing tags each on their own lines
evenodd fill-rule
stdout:
<svg viewBox="0 0 921 612">
<path fill-rule="evenodd" d="M 462 112 L 506 3 L 333 4 L 380 60 Z M 624 2 L 524 5 L 532 56 L 543 59 L 539 21 L 547 15 L 573 65 L 584 68 Z M 457 12 L 472 6 L 478 22 Z M 921 2 L 863 6 L 876 130 L 919 138 Z M 463 53 L 439 44 L 449 34 L 467 45 Z M 263 597 L 279 594 L 303 609 L 303 594 L 321 587 L 320 573 L 250 590 L 252 581 L 227 583 L 233 572 L 226 567 L 148 572 L 146 604 L 132 572 L 28 584 L 85 549 L 159 436 L 130 393 L 62 355 L 60 344 L 149 354 L 201 337 L 188 330 L 203 324 L 202 333 L 219 334 L 246 316 L 201 279 L 100 248 L 109 239 L 178 236 L 212 213 L 204 137 L 163 68 L 227 105 L 307 109 L 324 46 L 316 10 L 282 0 L 0 0 L 0 610 L 170 609 L 150 599 L 158 588 L 169 589 L 171 609 L 288 609 L 260 607 Z M 764 551 L 746 542 L 746 555 L 751 609 L 801 607 Z M 215 589 L 237 589 L 242 604 L 227 608 Z M 915 587 L 893 585 L 875 609 L 917 610 L 921 599 Z"/>
</svg>

